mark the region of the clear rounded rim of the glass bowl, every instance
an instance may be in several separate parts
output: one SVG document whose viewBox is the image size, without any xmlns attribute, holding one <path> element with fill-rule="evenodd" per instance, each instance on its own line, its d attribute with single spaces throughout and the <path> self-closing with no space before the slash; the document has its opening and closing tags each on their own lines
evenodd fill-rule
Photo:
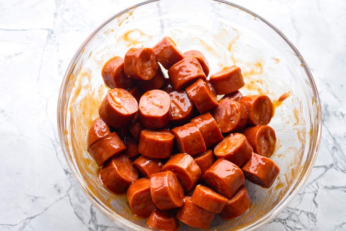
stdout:
<svg viewBox="0 0 346 231">
<path fill-rule="evenodd" d="M 132 222 L 129 222 L 127 219 L 125 219 L 124 217 L 120 216 L 119 214 L 115 213 L 114 211 L 112 211 L 109 207 L 103 205 L 103 203 L 97 198 L 94 197 L 94 195 L 90 192 L 90 190 L 85 187 L 84 182 L 81 178 L 79 178 L 78 172 L 75 169 L 75 166 L 73 165 L 72 161 L 69 160 L 69 158 L 67 157 L 67 153 L 69 153 L 67 151 L 67 147 L 65 145 L 62 145 L 64 143 L 66 143 L 65 140 L 65 136 L 63 134 L 64 131 L 64 116 L 66 116 L 67 114 L 67 110 L 66 110 L 66 114 L 64 115 L 62 112 L 62 108 L 63 108 L 63 92 L 65 92 L 66 88 L 68 87 L 67 85 L 67 79 L 70 76 L 71 71 L 74 69 L 74 63 L 76 60 L 79 59 L 80 55 L 83 53 L 84 48 L 90 43 L 90 41 L 100 32 L 100 30 L 103 29 L 104 26 L 106 26 L 108 23 L 110 23 L 112 20 L 114 20 L 115 18 L 119 17 L 120 15 L 124 14 L 125 12 L 135 8 L 135 7 L 139 7 L 139 6 L 143 6 L 146 5 L 148 3 L 152 3 L 152 2 L 156 2 L 156 1 L 162 1 L 162 0 L 147 0 L 147 1 L 143 1 L 140 2 L 134 6 L 128 7 L 120 12 L 118 12 L 117 14 L 111 16 L 110 18 L 108 18 L 106 21 L 104 21 L 100 26 L 98 26 L 85 40 L 84 42 L 80 45 L 80 47 L 78 48 L 78 50 L 76 51 L 76 53 L 74 54 L 74 56 L 72 57 L 69 65 L 67 66 L 66 72 L 64 74 L 64 78 L 62 80 L 61 83 L 61 87 L 60 87 L 60 92 L 59 92 L 59 98 L 58 98 L 58 105 L 57 105 L 57 125 L 58 125 L 58 132 L 59 132 L 59 138 L 60 138 L 60 143 L 62 146 L 62 151 L 65 157 L 65 160 L 67 162 L 67 165 L 69 166 L 70 171 L 73 174 L 73 177 L 75 178 L 75 180 L 77 181 L 78 185 L 83 189 L 84 193 L 86 194 L 86 196 L 88 196 L 90 202 L 98 208 L 98 210 L 104 214 L 106 217 L 108 217 L 109 220 L 111 220 L 113 223 L 115 223 L 116 225 L 120 226 L 121 228 L 125 229 L 125 230 L 129 230 L 129 228 L 131 230 L 147 230 L 144 229 L 143 227 L 140 227 L 139 225 L 136 225 Z M 298 59 L 300 59 L 301 63 L 303 64 L 303 68 L 309 78 L 309 81 L 311 83 L 311 89 L 312 89 L 312 93 L 313 96 L 316 99 L 316 108 L 317 108 L 317 140 L 316 140 L 316 145 L 313 146 L 312 148 L 312 161 L 310 161 L 310 163 L 308 164 L 308 166 L 306 167 L 306 173 L 302 176 L 301 181 L 299 183 L 297 183 L 296 188 L 286 197 L 285 201 L 283 204 L 281 204 L 279 207 L 277 207 L 276 210 L 274 210 L 272 212 L 272 214 L 267 215 L 267 216 L 263 216 L 262 218 L 258 219 L 257 221 L 255 221 L 254 223 L 252 223 L 250 226 L 244 227 L 240 230 L 254 230 L 256 228 L 259 228 L 260 226 L 270 222 L 271 220 L 274 219 L 275 216 L 277 216 L 282 210 L 284 210 L 284 208 L 286 208 L 290 202 L 292 202 L 293 198 L 298 194 L 298 192 L 300 191 L 300 189 L 302 188 L 302 186 L 306 183 L 307 178 L 310 175 L 310 172 L 312 170 L 312 167 L 315 164 L 316 161 L 316 156 L 319 150 L 319 146 L 320 146 L 320 141 L 321 141 L 321 130 L 322 130 L 322 113 L 321 113 L 321 104 L 320 104 L 320 99 L 319 99 L 319 94 L 317 91 L 317 87 L 316 87 L 316 83 L 315 80 L 312 77 L 311 71 L 306 63 L 306 61 L 303 59 L 302 55 L 300 54 L 300 52 L 297 50 L 297 48 L 291 43 L 291 41 L 278 29 L 276 28 L 274 25 L 272 25 L 271 23 L 269 23 L 266 19 L 264 19 L 263 17 L 257 15 L 255 12 L 239 6 L 238 4 L 232 3 L 232 2 L 228 2 L 228 1 L 224 1 L 224 0 L 210 0 L 210 1 L 215 1 L 215 2 L 221 2 L 221 3 L 225 3 L 227 5 L 230 5 L 232 7 L 238 8 L 242 11 L 245 11 L 248 14 L 253 15 L 254 17 L 258 18 L 259 20 L 263 21 L 265 24 L 267 24 L 269 27 L 271 27 L 277 34 L 279 34 L 284 41 L 292 48 L 292 50 L 295 52 L 295 55 L 298 57 Z M 67 102 L 68 104 L 68 102 Z M 311 138 L 310 138 L 311 139 Z M 100 204 L 102 206 L 100 206 Z M 113 215 L 116 215 L 116 217 L 114 217 Z M 126 223 L 126 224 L 125 224 Z"/>
</svg>

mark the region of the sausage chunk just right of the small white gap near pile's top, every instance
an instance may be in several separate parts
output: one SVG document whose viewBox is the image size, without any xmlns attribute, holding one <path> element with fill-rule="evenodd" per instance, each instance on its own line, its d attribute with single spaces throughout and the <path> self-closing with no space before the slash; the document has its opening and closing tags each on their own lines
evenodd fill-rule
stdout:
<svg viewBox="0 0 346 231">
<path fill-rule="evenodd" d="M 201 64 L 193 57 L 187 57 L 174 64 L 168 70 L 168 75 L 173 82 L 175 90 L 181 90 L 198 79 L 207 79 Z"/>
</svg>

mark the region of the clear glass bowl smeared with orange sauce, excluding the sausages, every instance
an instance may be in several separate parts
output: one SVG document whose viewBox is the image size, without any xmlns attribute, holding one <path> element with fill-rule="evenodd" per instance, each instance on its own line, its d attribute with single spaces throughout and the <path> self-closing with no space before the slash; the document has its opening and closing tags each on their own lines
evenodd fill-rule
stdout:
<svg viewBox="0 0 346 231">
<path fill-rule="evenodd" d="M 210 230 L 253 230 L 273 219 L 304 185 L 321 135 L 320 101 L 310 70 L 293 44 L 255 13 L 225 1 L 147 1 L 99 26 L 74 55 L 58 101 L 58 128 L 66 161 L 90 201 L 125 230 L 153 230 L 134 216 L 126 196 L 107 192 L 86 150 L 86 134 L 107 92 L 103 64 L 129 47 L 152 47 L 170 36 L 181 51 L 200 50 L 210 73 L 225 66 L 242 69 L 243 94 L 266 94 L 274 104 L 270 122 L 277 143 L 272 158 L 280 174 L 270 189 L 246 182 L 252 206 L 237 219 L 217 215 Z M 283 93 L 290 96 L 283 102 Z M 182 226 L 182 230 L 197 230 Z"/>
</svg>

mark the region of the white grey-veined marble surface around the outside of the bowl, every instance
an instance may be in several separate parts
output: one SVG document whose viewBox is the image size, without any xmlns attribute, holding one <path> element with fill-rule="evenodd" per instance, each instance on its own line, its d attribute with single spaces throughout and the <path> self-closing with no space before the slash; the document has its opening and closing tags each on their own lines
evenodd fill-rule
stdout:
<svg viewBox="0 0 346 231">
<path fill-rule="evenodd" d="M 70 174 L 56 106 L 79 45 L 136 2 L 0 0 L 0 230 L 121 230 L 91 205 Z M 297 46 L 323 113 L 320 151 L 306 186 L 259 230 L 346 230 L 346 1 L 235 2 L 264 16 Z"/>
</svg>

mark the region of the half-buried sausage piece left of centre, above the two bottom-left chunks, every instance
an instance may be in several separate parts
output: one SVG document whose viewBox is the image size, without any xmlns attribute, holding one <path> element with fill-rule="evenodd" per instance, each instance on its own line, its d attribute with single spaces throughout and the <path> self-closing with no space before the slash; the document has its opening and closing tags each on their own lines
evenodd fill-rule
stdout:
<svg viewBox="0 0 346 231">
<path fill-rule="evenodd" d="M 138 171 L 147 178 L 157 172 L 162 172 L 162 162 L 160 159 L 149 158 L 146 156 L 138 157 L 133 164 L 138 169 Z"/>
</svg>

